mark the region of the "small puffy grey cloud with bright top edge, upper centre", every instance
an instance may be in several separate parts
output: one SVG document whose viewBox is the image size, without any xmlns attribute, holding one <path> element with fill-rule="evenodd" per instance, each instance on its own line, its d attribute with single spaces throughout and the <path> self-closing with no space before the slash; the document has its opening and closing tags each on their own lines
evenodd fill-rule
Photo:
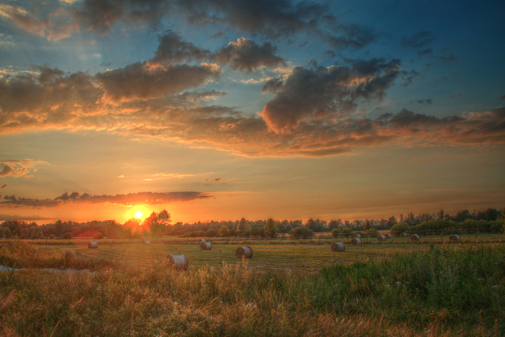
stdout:
<svg viewBox="0 0 505 337">
<path fill-rule="evenodd" d="M 214 53 L 218 64 L 229 64 L 233 70 L 252 71 L 261 67 L 285 66 L 286 60 L 275 55 L 277 48 L 270 42 L 257 44 L 248 38 L 239 38 Z"/>
</svg>

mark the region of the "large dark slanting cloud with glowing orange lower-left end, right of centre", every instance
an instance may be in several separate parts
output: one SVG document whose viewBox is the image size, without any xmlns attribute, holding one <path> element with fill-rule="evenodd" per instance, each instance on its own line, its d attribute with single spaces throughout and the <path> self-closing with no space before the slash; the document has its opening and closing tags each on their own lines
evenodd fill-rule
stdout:
<svg viewBox="0 0 505 337">
<path fill-rule="evenodd" d="M 400 74 L 399 60 L 346 60 L 344 66 L 296 67 L 276 97 L 261 112 L 270 129 L 287 132 L 302 120 L 345 116 L 359 100 L 382 100 Z M 270 83 L 264 91 L 270 89 Z"/>
</svg>

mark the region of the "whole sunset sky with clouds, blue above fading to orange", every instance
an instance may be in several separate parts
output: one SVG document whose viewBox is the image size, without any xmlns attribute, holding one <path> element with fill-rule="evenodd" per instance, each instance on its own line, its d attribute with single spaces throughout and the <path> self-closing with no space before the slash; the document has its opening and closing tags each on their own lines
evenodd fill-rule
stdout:
<svg viewBox="0 0 505 337">
<path fill-rule="evenodd" d="M 504 12 L 0 0 L 0 220 L 502 208 Z"/>
</svg>

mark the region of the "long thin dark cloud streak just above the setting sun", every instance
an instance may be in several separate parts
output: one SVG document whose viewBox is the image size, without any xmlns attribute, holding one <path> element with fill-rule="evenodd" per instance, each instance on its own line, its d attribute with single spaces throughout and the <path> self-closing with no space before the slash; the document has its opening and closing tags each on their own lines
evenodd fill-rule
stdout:
<svg viewBox="0 0 505 337">
<path fill-rule="evenodd" d="M 29 206 L 29 207 L 57 207 L 67 203 L 91 203 L 91 204 L 115 204 L 123 206 L 133 205 L 159 205 L 176 201 L 191 201 L 196 199 L 211 198 L 204 192 L 182 191 L 182 192 L 138 192 L 129 194 L 108 195 L 90 195 L 87 193 L 68 192 L 54 199 L 31 199 L 17 198 L 16 196 L 5 196 L 4 201 L 0 202 L 3 206 Z"/>
</svg>

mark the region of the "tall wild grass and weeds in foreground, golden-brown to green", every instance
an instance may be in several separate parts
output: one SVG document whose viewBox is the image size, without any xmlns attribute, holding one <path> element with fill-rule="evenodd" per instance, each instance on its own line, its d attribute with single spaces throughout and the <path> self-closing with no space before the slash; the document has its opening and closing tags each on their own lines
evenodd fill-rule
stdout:
<svg viewBox="0 0 505 337">
<path fill-rule="evenodd" d="M 27 253 L 20 263 L 61 259 L 59 249 L 23 242 L 0 248 L 0 259 L 21 251 Z M 67 266 L 84 261 L 77 253 Z M 143 268 L 88 257 L 95 273 L 28 269 L 8 284 L 3 277 L 0 335 L 498 336 L 505 331 L 504 256 L 502 243 L 439 245 L 317 271 L 239 261 L 187 272 L 156 257 Z"/>
</svg>

